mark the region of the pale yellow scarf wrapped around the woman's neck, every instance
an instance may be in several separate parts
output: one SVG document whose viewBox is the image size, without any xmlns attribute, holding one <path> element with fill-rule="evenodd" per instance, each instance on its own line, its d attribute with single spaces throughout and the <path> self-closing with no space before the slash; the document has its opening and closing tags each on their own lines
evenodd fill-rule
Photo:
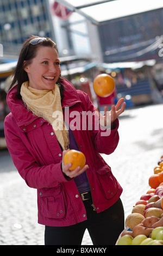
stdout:
<svg viewBox="0 0 163 256">
<path fill-rule="evenodd" d="M 37 117 L 47 120 L 52 125 L 62 149 L 68 149 L 68 130 L 64 122 L 58 84 L 55 84 L 53 90 L 37 90 L 28 84 L 28 81 L 24 82 L 20 92 L 27 109 Z"/>
</svg>

